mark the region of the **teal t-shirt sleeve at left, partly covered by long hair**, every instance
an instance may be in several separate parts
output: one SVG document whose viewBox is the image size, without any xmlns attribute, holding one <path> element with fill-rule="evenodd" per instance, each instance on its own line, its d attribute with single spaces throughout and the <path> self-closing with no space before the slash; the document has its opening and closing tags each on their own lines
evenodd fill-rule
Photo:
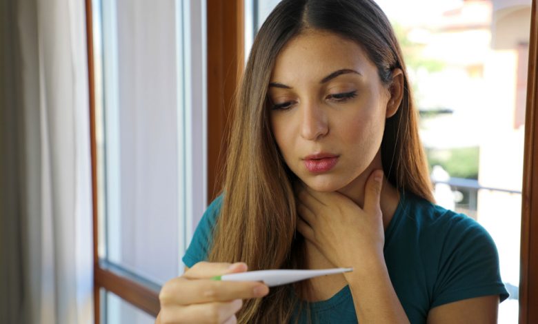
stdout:
<svg viewBox="0 0 538 324">
<path fill-rule="evenodd" d="M 189 247 L 183 259 L 181 259 L 187 267 L 192 267 L 196 263 L 208 259 L 209 249 L 212 244 L 212 231 L 217 224 L 217 216 L 219 216 L 221 210 L 222 199 L 222 195 L 218 196 L 217 199 L 212 201 L 206 212 L 203 213 Z"/>
</svg>

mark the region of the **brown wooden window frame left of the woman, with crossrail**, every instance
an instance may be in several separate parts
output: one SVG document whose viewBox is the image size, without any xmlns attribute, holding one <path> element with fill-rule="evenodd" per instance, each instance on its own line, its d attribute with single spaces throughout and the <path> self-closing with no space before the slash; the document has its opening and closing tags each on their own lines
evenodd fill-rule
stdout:
<svg viewBox="0 0 538 324">
<path fill-rule="evenodd" d="M 101 322 L 103 288 L 113 292 L 135 307 L 157 317 L 159 295 L 124 272 L 118 272 L 99 262 L 97 223 L 97 143 L 95 137 L 95 85 L 92 30 L 92 0 L 86 1 L 86 37 L 88 50 L 88 84 L 90 101 L 90 148 L 92 159 L 92 205 L 94 249 L 94 321 Z M 225 5 L 226 2 L 226 5 Z M 243 70 L 243 0 L 207 0 L 208 30 L 208 199 L 212 200 L 219 188 L 219 174 L 223 156 L 226 156 L 227 119 L 235 88 Z"/>
</svg>

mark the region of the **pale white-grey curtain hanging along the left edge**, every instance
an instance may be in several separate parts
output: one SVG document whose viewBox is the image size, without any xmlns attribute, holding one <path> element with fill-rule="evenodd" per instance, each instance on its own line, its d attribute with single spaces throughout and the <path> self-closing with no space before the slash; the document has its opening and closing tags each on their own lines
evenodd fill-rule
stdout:
<svg viewBox="0 0 538 324">
<path fill-rule="evenodd" d="M 0 322 L 92 323 L 84 1 L 0 6 Z"/>
</svg>

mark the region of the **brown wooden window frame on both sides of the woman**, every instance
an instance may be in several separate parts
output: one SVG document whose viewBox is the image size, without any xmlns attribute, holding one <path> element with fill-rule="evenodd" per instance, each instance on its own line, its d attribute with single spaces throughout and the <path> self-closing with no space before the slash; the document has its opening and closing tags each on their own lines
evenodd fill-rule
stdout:
<svg viewBox="0 0 538 324">
<path fill-rule="evenodd" d="M 90 94 L 90 136 L 92 156 L 92 203 L 94 240 L 94 318 L 100 323 L 101 288 L 117 294 L 153 316 L 159 313 L 155 290 L 99 264 L 97 242 L 97 146 L 94 119 L 94 63 L 92 43 L 92 3 L 86 1 L 88 79 Z M 206 0 L 208 27 L 208 201 L 221 187 L 223 157 L 226 156 L 228 116 L 235 88 L 243 70 L 243 0 Z M 519 323 L 538 323 L 538 8 L 532 0 L 526 102 L 524 179 L 521 194 L 521 276 L 519 283 Z M 210 9 L 209 9 L 210 8 Z M 220 174 L 219 174 L 220 173 Z"/>
</svg>

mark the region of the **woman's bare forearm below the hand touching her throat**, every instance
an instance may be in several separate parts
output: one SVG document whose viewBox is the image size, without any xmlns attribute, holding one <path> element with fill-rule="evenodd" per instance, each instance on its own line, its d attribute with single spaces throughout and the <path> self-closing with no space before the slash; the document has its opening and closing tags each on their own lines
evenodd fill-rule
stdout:
<svg viewBox="0 0 538 324">
<path fill-rule="evenodd" d="M 346 274 L 359 323 L 409 323 L 383 259 L 362 263 Z"/>
</svg>

